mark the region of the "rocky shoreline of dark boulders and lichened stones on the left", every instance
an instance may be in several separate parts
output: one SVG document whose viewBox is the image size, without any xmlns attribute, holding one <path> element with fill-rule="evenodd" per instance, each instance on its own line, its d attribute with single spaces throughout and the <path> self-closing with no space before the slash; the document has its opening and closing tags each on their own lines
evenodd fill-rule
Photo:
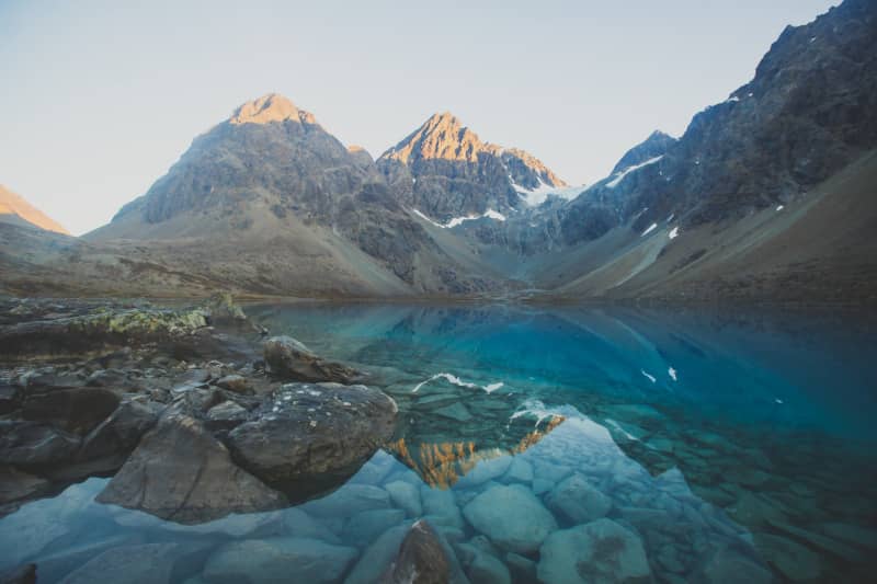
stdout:
<svg viewBox="0 0 877 584">
<path fill-rule="evenodd" d="M 396 403 L 364 374 L 269 337 L 228 296 L 2 299 L 0 314 L 3 515 L 110 476 L 98 501 L 182 524 L 285 507 L 392 436 Z"/>
</svg>

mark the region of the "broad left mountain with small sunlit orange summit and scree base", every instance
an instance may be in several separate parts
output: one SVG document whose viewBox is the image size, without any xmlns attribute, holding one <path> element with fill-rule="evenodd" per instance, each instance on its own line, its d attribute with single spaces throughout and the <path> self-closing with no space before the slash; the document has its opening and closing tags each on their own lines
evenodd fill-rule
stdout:
<svg viewBox="0 0 877 584">
<path fill-rule="evenodd" d="M 269 94 L 195 138 L 91 242 L 136 241 L 156 261 L 259 294 L 406 296 L 491 288 L 446 253 L 362 149 Z"/>
</svg>

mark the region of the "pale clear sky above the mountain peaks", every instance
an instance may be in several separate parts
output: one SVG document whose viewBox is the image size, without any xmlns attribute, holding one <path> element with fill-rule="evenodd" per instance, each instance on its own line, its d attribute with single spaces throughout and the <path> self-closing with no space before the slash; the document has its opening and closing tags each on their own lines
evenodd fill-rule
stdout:
<svg viewBox="0 0 877 584">
<path fill-rule="evenodd" d="M 269 92 L 375 157 L 447 110 L 592 182 L 836 3 L 0 0 L 0 183 L 89 231 Z"/>
</svg>

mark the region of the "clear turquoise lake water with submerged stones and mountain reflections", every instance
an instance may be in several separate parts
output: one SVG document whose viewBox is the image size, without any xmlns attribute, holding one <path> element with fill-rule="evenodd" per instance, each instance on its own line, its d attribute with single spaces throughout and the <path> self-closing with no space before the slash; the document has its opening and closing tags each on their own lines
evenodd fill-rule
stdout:
<svg viewBox="0 0 877 584">
<path fill-rule="evenodd" d="M 39 582 L 86 577 L 115 549 L 134 581 L 149 560 L 124 547 L 174 543 L 156 549 L 171 566 L 161 577 L 176 582 L 372 582 L 426 517 L 458 582 L 641 575 L 637 553 L 619 547 L 641 547 L 656 582 L 874 580 L 870 316 L 248 312 L 367 370 L 399 404 L 394 443 L 323 499 L 195 527 L 94 503 L 106 480 L 91 479 L 0 519 L 0 570 L 35 561 Z M 606 519 L 622 539 L 561 545 Z"/>
</svg>

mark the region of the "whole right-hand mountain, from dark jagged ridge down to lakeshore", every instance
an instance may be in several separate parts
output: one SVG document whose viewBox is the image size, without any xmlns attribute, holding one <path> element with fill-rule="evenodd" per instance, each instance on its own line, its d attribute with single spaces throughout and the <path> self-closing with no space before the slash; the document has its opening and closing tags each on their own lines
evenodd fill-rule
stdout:
<svg viewBox="0 0 877 584">
<path fill-rule="evenodd" d="M 863 185 L 877 148 L 876 56 L 874 0 L 786 27 L 752 81 L 695 115 L 679 140 L 653 135 L 634 148 L 558 211 L 567 259 L 554 294 L 874 295 L 865 226 L 877 217 Z M 805 236 L 805 225 L 818 231 Z M 573 256 L 582 260 L 570 265 Z"/>
</svg>

